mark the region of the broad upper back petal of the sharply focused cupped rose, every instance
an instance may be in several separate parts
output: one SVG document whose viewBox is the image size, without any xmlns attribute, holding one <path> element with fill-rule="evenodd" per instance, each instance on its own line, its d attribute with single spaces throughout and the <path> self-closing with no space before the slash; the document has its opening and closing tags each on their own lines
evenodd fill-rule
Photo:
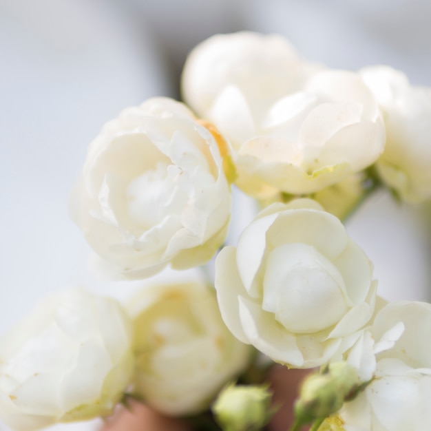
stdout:
<svg viewBox="0 0 431 431">
<path fill-rule="evenodd" d="M 302 243 L 313 247 L 329 260 L 335 259 L 348 243 L 343 224 L 330 213 L 293 209 L 280 213 L 266 233 L 271 247 Z"/>
</svg>

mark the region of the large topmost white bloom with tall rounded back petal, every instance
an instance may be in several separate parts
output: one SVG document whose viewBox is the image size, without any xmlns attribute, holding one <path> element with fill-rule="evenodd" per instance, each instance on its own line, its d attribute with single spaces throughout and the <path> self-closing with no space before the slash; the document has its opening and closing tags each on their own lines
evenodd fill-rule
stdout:
<svg viewBox="0 0 431 431">
<path fill-rule="evenodd" d="M 361 77 L 302 61 L 280 36 L 240 33 L 198 45 L 183 92 L 229 140 L 236 184 L 256 198 L 319 191 L 384 149 L 381 113 Z"/>
</svg>

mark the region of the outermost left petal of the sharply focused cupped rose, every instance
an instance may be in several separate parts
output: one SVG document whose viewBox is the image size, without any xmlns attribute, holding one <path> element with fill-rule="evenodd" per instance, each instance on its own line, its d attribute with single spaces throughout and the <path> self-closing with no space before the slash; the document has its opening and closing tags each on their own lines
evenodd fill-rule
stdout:
<svg viewBox="0 0 431 431">
<path fill-rule="evenodd" d="M 218 306 L 224 323 L 231 333 L 240 341 L 250 344 L 244 333 L 238 313 L 239 298 L 247 295 L 236 265 L 236 251 L 227 246 L 218 253 L 215 260 L 215 290 L 217 291 Z"/>
</svg>

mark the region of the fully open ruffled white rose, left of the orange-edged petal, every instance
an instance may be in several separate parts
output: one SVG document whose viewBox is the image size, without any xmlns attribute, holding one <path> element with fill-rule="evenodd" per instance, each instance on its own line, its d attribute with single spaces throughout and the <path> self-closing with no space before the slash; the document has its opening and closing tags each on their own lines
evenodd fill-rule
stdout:
<svg viewBox="0 0 431 431">
<path fill-rule="evenodd" d="M 107 123 L 90 146 L 72 217 L 106 268 L 124 277 L 198 266 L 227 233 L 222 162 L 185 105 L 149 99 Z"/>
</svg>

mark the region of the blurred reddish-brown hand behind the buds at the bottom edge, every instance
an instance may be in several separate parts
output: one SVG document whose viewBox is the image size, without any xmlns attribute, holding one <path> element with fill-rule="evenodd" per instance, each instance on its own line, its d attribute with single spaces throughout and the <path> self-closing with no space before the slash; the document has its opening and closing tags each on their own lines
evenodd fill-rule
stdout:
<svg viewBox="0 0 431 431">
<path fill-rule="evenodd" d="M 268 425 L 269 431 L 286 431 L 293 421 L 293 402 L 299 384 L 309 370 L 288 370 L 275 364 L 269 370 L 268 381 L 274 391 L 273 404 L 280 406 Z M 131 410 L 121 408 L 101 431 L 193 431 L 185 421 L 164 417 L 138 401 L 130 401 Z"/>
</svg>

